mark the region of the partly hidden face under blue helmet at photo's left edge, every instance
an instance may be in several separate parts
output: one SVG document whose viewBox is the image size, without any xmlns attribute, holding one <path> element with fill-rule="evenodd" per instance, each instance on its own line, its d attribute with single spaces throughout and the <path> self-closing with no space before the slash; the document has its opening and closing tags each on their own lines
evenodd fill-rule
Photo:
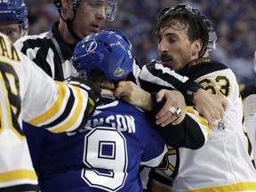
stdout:
<svg viewBox="0 0 256 192">
<path fill-rule="evenodd" d="M 12 43 L 24 34 L 21 24 L 17 21 L 0 21 L 0 32 L 8 36 Z"/>
</svg>

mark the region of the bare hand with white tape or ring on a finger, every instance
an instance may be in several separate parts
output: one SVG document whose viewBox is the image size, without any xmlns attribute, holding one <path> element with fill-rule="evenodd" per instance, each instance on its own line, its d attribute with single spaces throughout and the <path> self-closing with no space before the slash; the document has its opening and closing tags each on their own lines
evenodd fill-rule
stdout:
<svg viewBox="0 0 256 192">
<path fill-rule="evenodd" d="M 187 112 L 187 106 L 182 93 L 163 89 L 157 92 L 156 102 L 160 102 L 163 99 L 166 101 L 164 107 L 156 114 L 156 124 L 161 124 L 163 127 L 171 123 L 180 124 Z M 176 111 L 172 111 L 172 108 L 176 109 Z M 180 110 L 179 115 L 177 114 L 177 109 Z"/>
</svg>

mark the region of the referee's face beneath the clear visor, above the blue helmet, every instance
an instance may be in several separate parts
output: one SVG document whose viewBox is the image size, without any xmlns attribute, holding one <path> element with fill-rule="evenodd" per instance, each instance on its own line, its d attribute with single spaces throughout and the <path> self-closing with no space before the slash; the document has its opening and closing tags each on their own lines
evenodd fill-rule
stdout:
<svg viewBox="0 0 256 192">
<path fill-rule="evenodd" d="M 77 36 L 83 38 L 100 30 L 102 21 L 106 19 L 106 0 L 81 0 L 76 9 L 73 28 Z"/>
</svg>

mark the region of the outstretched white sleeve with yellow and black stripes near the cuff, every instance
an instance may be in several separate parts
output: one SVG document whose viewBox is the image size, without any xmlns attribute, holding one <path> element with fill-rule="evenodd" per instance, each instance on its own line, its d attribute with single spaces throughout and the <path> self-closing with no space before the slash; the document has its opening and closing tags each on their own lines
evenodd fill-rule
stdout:
<svg viewBox="0 0 256 192">
<path fill-rule="evenodd" d="M 20 76 L 24 89 L 23 120 L 44 126 L 52 132 L 70 132 L 82 124 L 87 107 L 88 94 L 73 85 L 54 82 L 50 76 L 20 54 L 26 68 L 21 69 Z M 25 76 L 26 74 L 26 76 Z"/>
</svg>

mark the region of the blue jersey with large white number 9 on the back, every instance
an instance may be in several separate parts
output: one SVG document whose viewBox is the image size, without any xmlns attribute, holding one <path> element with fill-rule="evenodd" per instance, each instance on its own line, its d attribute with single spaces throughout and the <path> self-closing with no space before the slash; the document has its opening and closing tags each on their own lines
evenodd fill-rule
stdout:
<svg viewBox="0 0 256 192">
<path fill-rule="evenodd" d="M 157 166 L 166 152 L 144 112 L 119 100 L 97 107 L 79 132 L 41 129 L 39 136 L 30 131 L 26 135 L 33 139 L 29 147 L 43 192 L 139 192 L 140 166 Z"/>
</svg>

